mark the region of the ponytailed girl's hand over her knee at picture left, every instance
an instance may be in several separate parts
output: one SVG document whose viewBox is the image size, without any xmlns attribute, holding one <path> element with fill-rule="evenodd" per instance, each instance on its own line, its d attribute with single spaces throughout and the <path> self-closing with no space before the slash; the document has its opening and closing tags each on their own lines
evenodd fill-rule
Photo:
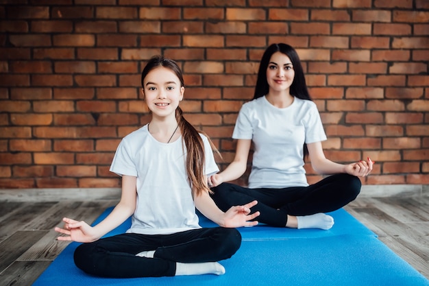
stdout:
<svg viewBox="0 0 429 286">
<path fill-rule="evenodd" d="M 86 222 L 77 222 L 74 219 L 64 217 L 64 228 L 55 228 L 55 231 L 62 233 L 66 236 L 58 237 L 62 241 L 76 241 L 76 242 L 93 242 L 99 239 L 94 228 L 86 224 Z"/>
</svg>

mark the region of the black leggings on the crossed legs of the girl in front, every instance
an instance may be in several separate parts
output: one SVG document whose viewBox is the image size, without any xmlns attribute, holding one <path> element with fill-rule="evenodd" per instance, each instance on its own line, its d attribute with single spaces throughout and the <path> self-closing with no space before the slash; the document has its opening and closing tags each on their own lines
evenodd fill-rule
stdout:
<svg viewBox="0 0 429 286">
<path fill-rule="evenodd" d="M 125 233 L 83 243 L 75 250 L 75 264 L 103 277 L 174 276 L 176 262 L 198 263 L 228 259 L 240 248 L 235 228 L 199 228 L 171 235 Z M 156 250 L 153 259 L 136 257 Z"/>
</svg>

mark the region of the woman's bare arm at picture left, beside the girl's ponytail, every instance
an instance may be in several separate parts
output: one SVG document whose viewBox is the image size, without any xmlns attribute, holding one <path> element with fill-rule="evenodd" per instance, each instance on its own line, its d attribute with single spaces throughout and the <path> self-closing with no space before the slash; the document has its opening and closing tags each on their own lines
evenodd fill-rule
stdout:
<svg viewBox="0 0 429 286">
<path fill-rule="evenodd" d="M 229 182 L 240 178 L 247 168 L 247 158 L 249 157 L 251 139 L 238 139 L 234 160 L 218 174 L 208 178 L 210 187 L 216 187 L 223 182 Z"/>
</svg>

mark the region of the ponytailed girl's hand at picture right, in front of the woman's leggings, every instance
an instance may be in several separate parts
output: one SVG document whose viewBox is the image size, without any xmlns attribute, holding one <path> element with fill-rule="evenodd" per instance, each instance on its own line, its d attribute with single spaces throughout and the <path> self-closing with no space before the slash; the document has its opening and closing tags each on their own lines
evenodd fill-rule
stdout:
<svg viewBox="0 0 429 286">
<path fill-rule="evenodd" d="M 250 208 L 258 204 L 256 200 L 245 204 L 244 206 L 232 206 L 223 217 L 223 226 L 225 228 L 238 228 L 241 226 L 256 226 L 258 222 L 249 222 L 255 217 L 258 217 L 260 213 L 252 213 L 249 215 Z"/>
</svg>

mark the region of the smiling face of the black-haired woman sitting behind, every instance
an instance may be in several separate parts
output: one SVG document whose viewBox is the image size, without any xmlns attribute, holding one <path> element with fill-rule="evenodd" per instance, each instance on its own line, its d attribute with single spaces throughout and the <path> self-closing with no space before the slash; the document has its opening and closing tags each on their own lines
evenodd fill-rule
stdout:
<svg viewBox="0 0 429 286">
<path fill-rule="evenodd" d="M 295 78 L 295 71 L 289 57 L 280 51 L 273 53 L 267 67 L 270 91 L 289 91 L 293 78 Z"/>
</svg>

